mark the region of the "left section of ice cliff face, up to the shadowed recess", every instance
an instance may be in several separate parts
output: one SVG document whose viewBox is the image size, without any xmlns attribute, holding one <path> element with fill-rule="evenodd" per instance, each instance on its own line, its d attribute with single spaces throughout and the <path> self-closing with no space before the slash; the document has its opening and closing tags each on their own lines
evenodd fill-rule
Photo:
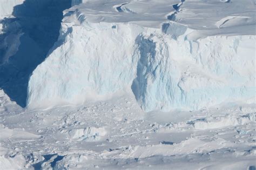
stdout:
<svg viewBox="0 0 256 170">
<path fill-rule="evenodd" d="M 136 69 L 133 26 L 97 27 L 90 31 L 82 26 L 66 29 L 60 45 L 30 77 L 30 107 L 82 104 L 131 85 Z"/>
</svg>

